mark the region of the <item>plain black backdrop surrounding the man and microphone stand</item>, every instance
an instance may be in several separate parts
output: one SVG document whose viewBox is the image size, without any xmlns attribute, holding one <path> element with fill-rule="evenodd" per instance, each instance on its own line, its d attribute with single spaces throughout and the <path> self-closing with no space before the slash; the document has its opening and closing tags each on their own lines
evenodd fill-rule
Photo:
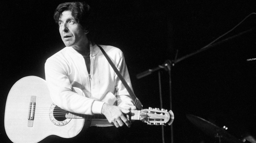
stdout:
<svg viewBox="0 0 256 143">
<path fill-rule="evenodd" d="M 4 111 L 12 85 L 25 76 L 44 78 L 45 60 L 65 47 L 53 20 L 62 2 L 1 2 L 1 141 L 11 142 L 4 129 Z M 91 0 L 88 4 L 96 15 L 96 43 L 123 51 L 134 92 L 144 108 L 160 107 L 158 73 L 141 79 L 136 74 L 174 60 L 177 51 L 179 59 L 201 49 L 256 12 L 253 0 Z M 189 122 L 186 114 L 226 125 L 237 138 L 245 133 L 256 135 L 256 64 L 246 61 L 256 58 L 255 30 L 241 34 L 255 24 L 254 14 L 217 41 L 223 42 L 172 67 L 175 142 L 213 140 Z M 168 73 L 161 70 L 160 75 L 163 108 L 169 110 Z M 134 142 L 161 142 L 160 126 L 136 121 L 129 131 Z M 164 131 L 165 141 L 170 142 L 170 127 Z"/>
</svg>

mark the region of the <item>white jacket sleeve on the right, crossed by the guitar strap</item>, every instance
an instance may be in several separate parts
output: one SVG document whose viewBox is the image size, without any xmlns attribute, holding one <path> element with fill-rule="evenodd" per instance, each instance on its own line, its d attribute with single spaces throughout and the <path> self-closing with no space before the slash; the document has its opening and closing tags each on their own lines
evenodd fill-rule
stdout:
<svg viewBox="0 0 256 143">
<path fill-rule="evenodd" d="M 129 87 L 132 88 L 131 80 L 130 80 L 130 75 L 123 57 L 123 54 L 121 53 L 120 59 L 117 61 L 117 69 L 120 71 L 121 75 L 129 85 Z M 116 79 L 116 97 L 117 97 L 117 106 L 119 107 L 125 107 L 129 105 L 134 105 L 128 91 L 122 84 L 121 80 L 118 78 L 118 76 L 115 76 Z"/>
</svg>

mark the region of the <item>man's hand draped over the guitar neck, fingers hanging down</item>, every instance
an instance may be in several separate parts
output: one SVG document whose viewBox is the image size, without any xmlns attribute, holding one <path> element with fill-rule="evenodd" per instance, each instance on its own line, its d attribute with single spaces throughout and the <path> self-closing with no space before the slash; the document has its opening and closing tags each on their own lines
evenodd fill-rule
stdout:
<svg viewBox="0 0 256 143">
<path fill-rule="evenodd" d="M 123 126 L 123 123 L 125 123 L 127 127 L 131 126 L 130 121 L 123 115 L 123 113 L 130 113 L 130 110 L 104 103 L 101 113 L 105 115 L 109 123 L 114 123 L 117 128 Z"/>
</svg>

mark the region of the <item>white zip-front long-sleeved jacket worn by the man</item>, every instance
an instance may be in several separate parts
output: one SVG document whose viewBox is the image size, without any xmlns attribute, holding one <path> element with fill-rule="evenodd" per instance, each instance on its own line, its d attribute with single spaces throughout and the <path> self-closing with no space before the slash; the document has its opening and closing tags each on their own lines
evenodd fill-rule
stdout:
<svg viewBox="0 0 256 143">
<path fill-rule="evenodd" d="M 121 50 L 100 46 L 132 88 Z M 103 103 L 120 107 L 133 105 L 126 88 L 97 45 L 90 44 L 90 59 L 90 75 L 83 56 L 72 47 L 65 47 L 47 59 L 45 78 L 53 102 L 64 110 L 87 115 L 101 114 Z M 72 87 L 80 88 L 86 97 L 73 92 Z"/>
</svg>

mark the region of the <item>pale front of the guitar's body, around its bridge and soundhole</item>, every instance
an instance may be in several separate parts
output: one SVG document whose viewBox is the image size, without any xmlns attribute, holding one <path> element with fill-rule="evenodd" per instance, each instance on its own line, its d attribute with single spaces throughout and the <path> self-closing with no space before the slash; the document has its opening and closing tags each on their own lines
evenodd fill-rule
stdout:
<svg viewBox="0 0 256 143">
<path fill-rule="evenodd" d="M 35 96 L 35 113 L 31 126 L 28 116 L 32 96 Z M 12 86 L 7 97 L 4 119 L 6 134 L 14 143 L 35 143 L 49 135 L 64 138 L 77 135 L 85 119 L 56 120 L 50 114 L 54 107 L 45 80 L 36 76 L 20 79 Z"/>
</svg>

